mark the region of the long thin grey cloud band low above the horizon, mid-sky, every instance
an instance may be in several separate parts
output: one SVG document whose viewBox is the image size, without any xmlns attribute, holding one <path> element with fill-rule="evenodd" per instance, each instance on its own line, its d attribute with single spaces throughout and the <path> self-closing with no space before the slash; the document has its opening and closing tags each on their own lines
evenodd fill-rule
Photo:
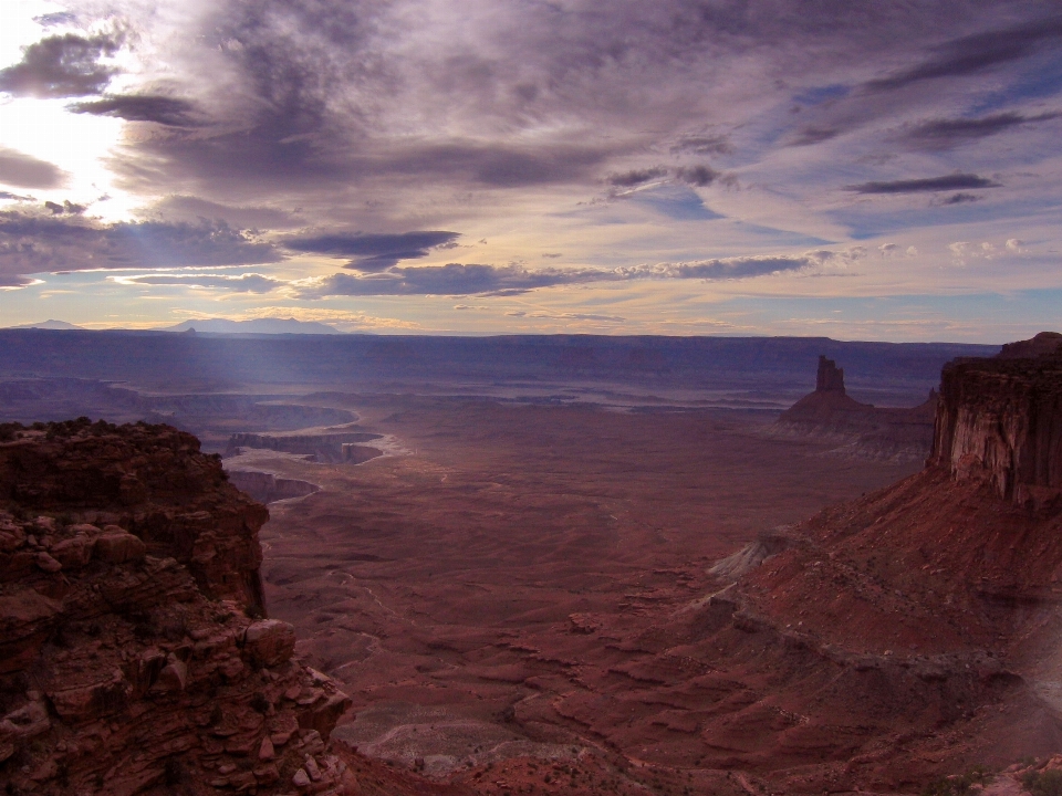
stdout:
<svg viewBox="0 0 1062 796">
<path fill-rule="evenodd" d="M 441 268 L 407 266 L 355 276 L 332 274 L 296 286 L 302 298 L 330 295 L 516 295 L 542 287 L 628 282 L 634 280 L 732 280 L 801 271 L 839 256 L 810 252 L 801 256 L 748 256 L 691 263 L 662 263 L 606 271 L 603 269 L 541 269 L 522 265 L 449 263 Z"/>
</svg>

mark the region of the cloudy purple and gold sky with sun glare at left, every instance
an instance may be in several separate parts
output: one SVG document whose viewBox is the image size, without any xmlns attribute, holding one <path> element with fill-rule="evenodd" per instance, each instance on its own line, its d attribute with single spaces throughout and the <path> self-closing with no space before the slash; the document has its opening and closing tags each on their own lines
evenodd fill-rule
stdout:
<svg viewBox="0 0 1062 796">
<path fill-rule="evenodd" d="M 0 326 L 1062 328 L 1062 6 L 3 0 Z"/>
</svg>

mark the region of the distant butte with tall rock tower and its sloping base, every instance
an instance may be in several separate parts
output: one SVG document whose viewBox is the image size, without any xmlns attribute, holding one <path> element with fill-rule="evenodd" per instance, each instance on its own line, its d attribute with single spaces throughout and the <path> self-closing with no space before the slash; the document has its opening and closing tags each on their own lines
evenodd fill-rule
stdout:
<svg viewBox="0 0 1062 796">
<path fill-rule="evenodd" d="M 835 455 L 922 462 L 933 443 L 937 395 L 910 409 L 879 408 L 847 395 L 844 370 L 819 357 L 815 391 L 781 413 L 771 433 L 836 442 Z"/>
</svg>

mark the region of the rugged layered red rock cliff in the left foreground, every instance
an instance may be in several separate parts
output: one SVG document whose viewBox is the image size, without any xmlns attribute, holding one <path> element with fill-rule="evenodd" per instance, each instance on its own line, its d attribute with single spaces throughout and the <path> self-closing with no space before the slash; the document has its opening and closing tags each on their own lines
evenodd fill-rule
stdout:
<svg viewBox="0 0 1062 796">
<path fill-rule="evenodd" d="M 0 426 L 0 787 L 355 787 L 348 698 L 264 617 L 267 516 L 170 427 Z"/>
</svg>

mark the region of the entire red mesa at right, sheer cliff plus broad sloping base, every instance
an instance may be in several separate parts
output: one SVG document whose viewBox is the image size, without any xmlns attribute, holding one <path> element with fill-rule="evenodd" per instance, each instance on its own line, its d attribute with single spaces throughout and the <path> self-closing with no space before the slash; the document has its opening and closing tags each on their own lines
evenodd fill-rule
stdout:
<svg viewBox="0 0 1062 796">
<path fill-rule="evenodd" d="M 1010 350 L 945 368 L 924 471 L 717 567 L 688 627 L 747 701 L 716 764 L 914 789 L 1062 752 L 1062 356 Z"/>
</svg>

